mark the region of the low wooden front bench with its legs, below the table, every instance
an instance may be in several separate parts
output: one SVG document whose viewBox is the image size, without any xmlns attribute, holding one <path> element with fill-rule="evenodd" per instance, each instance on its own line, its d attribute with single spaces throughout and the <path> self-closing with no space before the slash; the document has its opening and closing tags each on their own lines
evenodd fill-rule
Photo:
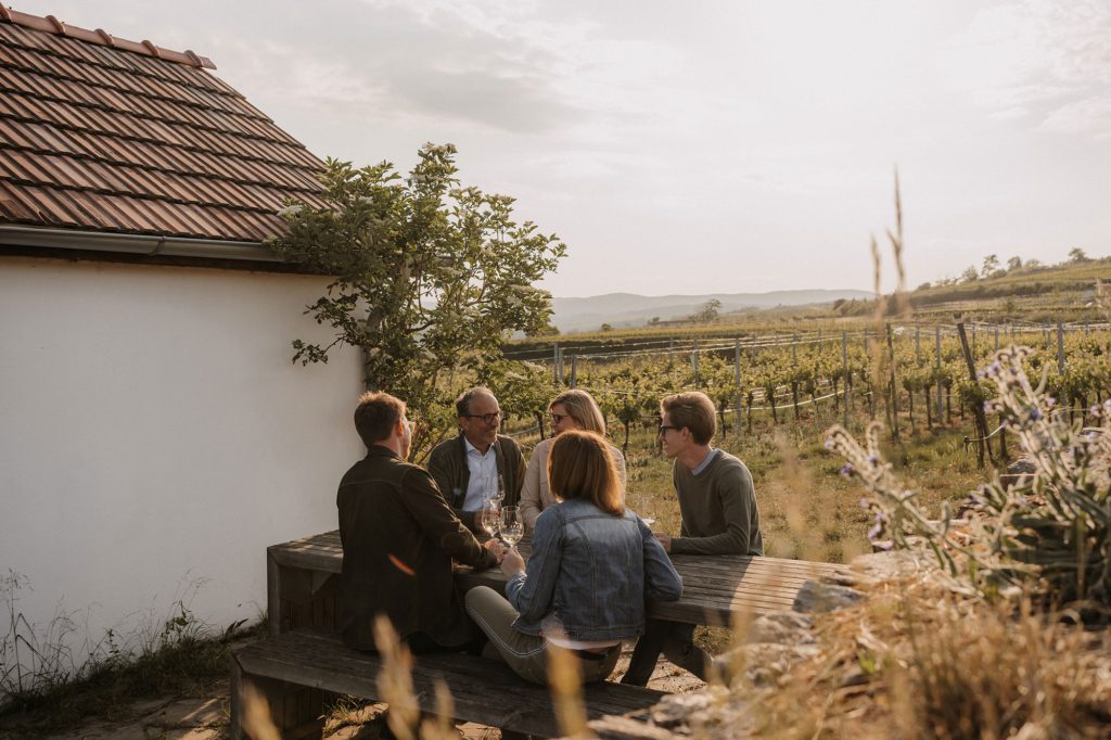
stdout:
<svg viewBox="0 0 1111 740">
<path fill-rule="evenodd" d="M 380 700 L 381 659 L 344 646 L 326 629 L 306 628 L 262 640 L 231 658 L 231 737 L 244 734 L 247 687 L 264 697 L 283 738 L 320 737 L 322 712 L 331 696 Z M 538 737 L 561 734 L 544 687 L 524 682 L 508 666 L 466 654 L 417 657 L 413 689 L 422 710 L 434 713 L 436 682 L 451 690 L 456 720 Z M 662 691 L 603 681 L 584 687 L 589 719 L 644 712 Z"/>
</svg>

